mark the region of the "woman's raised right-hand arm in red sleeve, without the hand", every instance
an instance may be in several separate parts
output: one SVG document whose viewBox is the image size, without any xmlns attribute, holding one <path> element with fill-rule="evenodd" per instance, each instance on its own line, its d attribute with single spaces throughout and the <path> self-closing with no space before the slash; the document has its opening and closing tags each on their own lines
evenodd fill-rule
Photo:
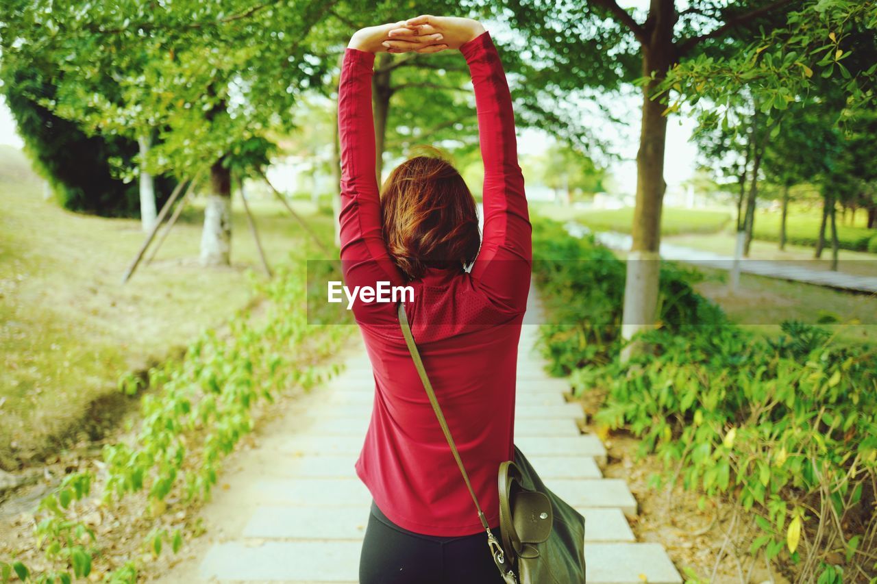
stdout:
<svg viewBox="0 0 877 584">
<path fill-rule="evenodd" d="M 532 230 L 524 175 L 517 164 L 509 84 L 489 32 L 460 46 L 460 53 L 472 75 L 484 161 L 484 234 L 472 276 L 495 303 L 523 312 L 530 289 Z"/>
</svg>

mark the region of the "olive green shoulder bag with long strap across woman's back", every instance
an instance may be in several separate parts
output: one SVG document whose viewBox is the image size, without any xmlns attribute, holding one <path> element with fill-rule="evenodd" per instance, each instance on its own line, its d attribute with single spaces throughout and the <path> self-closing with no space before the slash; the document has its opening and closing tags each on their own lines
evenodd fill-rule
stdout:
<svg viewBox="0 0 877 584">
<path fill-rule="evenodd" d="M 539 479 L 538 474 L 515 446 L 515 459 L 499 466 L 499 520 L 500 538 L 490 531 L 487 518 L 481 511 L 475 492 L 469 483 L 466 468 L 453 444 L 432 384 L 426 375 L 417 345 L 411 334 L 408 316 L 399 304 L 399 324 L 405 343 L 424 383 L 432 410 L 439 418 L 453 458 L 460 466 L 460 474 L 481 525 L 488 534 L 488 546 L 496 567 L 506 584 L 584 584 L 585 582 L 585 518 L 566 502 L 554 495 Z"/>
</svg>

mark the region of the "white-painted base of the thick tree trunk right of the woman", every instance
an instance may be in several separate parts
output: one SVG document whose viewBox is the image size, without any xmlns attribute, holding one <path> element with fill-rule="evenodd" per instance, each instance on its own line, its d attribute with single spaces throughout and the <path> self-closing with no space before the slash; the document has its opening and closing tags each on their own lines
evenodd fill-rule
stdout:
<svg viewBox="0 0 877 584">
<path fill-rule="evenodd" d="M 639 331 L 654 328 L 658 320 L 655 299 L 658 298 L 659 283 L 660 253 L 628 253 L 627 279 L 624 281 L 624 322 L 621 325 L 621 336 L 625 341 L 631 340 Z M 621 352 L 621 360 L 629 360 L 636 351 L 636 345 L 628 343 Z"/>
</svg>

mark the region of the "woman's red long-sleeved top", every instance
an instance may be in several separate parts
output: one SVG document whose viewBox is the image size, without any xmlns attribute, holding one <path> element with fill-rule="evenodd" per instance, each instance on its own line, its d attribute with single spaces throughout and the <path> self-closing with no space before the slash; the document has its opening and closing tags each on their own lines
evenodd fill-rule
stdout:
<svg viewBox="0 0 877 584">
<path fill-rule="evenodd" d="M 497 471 L 513 459 L 517 343 L 530 288 L 531 224 L 517 163 L 509 86 L 488 32 L 460 47 L 472 75 L 484 162 L 484 227 L 472 269 L 407 281 L 381 236 L 375 179 L 374 53 L 347 48 L 339 85 L 341 264 L 345 284 L 414 288 L 414 338 L 460 458 L 499 524 Z M 482 530 L 432 411 L 392 303 L 353 305 L 374 371 L 374 406 L 355 470 L 391 521 L 435 536 Z"/>
</svg>

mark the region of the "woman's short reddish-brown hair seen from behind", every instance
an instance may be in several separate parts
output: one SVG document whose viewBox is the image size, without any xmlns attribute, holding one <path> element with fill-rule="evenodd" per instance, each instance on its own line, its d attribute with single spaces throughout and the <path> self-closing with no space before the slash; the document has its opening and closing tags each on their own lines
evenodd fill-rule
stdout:
<svg viewBox="0 0 877 584">
<path fill-rule="evenodd" d="M 405 160 L 381 190 L 381 223 L 390 257 L 411 280 L 428 267 L 472 263 L 481 246 L 475 199 L 453 165 L 432 155 Z"/>
</svg>

